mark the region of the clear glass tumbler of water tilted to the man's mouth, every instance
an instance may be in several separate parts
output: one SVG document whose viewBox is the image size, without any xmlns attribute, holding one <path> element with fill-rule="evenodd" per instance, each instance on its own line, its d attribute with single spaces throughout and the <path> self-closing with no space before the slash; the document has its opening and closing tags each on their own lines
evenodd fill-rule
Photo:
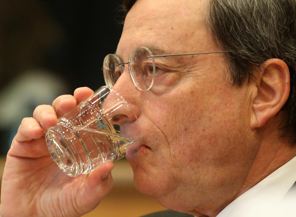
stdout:
<svg viewBox="0 0 296 217">
<path fill-rule="evenodd" d="M 55 163 L 69 176 L 87 174 L 105 161 L 125 157 L 142 140 L 138 119 L 120 94 L 107 86 L 58 119 L 46 133 Z"/>
</svg>

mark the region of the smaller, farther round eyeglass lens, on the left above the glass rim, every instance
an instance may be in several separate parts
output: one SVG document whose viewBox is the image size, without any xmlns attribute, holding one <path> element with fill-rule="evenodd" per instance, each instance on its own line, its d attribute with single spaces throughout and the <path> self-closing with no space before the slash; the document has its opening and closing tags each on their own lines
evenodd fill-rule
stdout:
<svg viewBox="0 0 296 217">
<path fill-rule="evenodd" d="M 113 87 L 123 72 L 123 66 L 118 65 L 119 63 L 121 63 L 119 57 L 114 54 L 108 54 L 104 59 L 103 74 L 105 83 L 109 87 Z"/>
</svg>

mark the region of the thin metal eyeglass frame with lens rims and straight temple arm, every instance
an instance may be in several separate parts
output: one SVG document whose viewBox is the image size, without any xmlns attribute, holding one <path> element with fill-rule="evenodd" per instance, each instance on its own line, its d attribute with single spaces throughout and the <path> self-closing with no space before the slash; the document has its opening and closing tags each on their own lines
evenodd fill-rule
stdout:
<svg viewBox="0 0 296 217">
<path fill-rule="evenodd" d="M 135 47 L 135 48 L 133 49 L 133 51 L 136 50 L 137 48 L 139 48 L 139 47 Z M 143 47 L 143 48 L 148 49 L 148 51 L 150 51 L 150 49 L 149 49 L 148 47 Z M 133 52 L 133 51 L 132 51 L 132 52 Z M 132 53 L 132 52 L 131 52 L 131 53 Z M 152 51 L 150 51 L 150 52 L 152 53 Z M 154 57 L 184 56 L 184 55 L 198 55 L 198 54 L 214 54 L 214 53 L 226 53 L 226 52 L 230 52 L 230 51 L 212 51 L 212 52 L 199 52 L 199 53 L 181 53 L 181 54 L 150 55 L 150 56 L 147 56 L 146 59 L 148 59 L 148 58 L 154 58 Z M 131 55 L 131 53 L 130 53 L 130 55 Z M 110 54 L 108 54 L 108 55 L 110 55 Z M 108 55 L 106 55 L 106 57 L 107 57 Z M 118 56 L 115 55 L 115 54 L 112 54 L 112 55 L 118 57 Z M 106 58 L 106 57 L 105 57 L 105 58 Z M 118 59 L 120 59 L 120 58 L 118 57 Z M 130 59 L 130 57 L 129 57 L 129 59 Z M 105 62 L 105 61 L 104 61 L 104 62 Z M 136 82 L 135 82 L 135 80 L 134 80 L 134 77 L 133 77 L 133 73 L 131 72 L 130 63 L 132 63 L 132 62 L 121 62 L 121 63 L 117 64 L 116 66 L 118 67 L 118 66 L 121 65 L 121 73 L 123 73 L 124 70 L 123 70 L 122 67 L 124 67 L 124 64 L 128 64 L 128 65 L 129 65 L 130 76 L 131 76 L 131 78 L 132 78 L 132 80 L 133 80 L 134 85 L 135 85 L 139 90 L 147 91 L 147 90 L 149 90 L 150 88 L 152 88 L 153 83 L 154 83 L 154 79 L 155 79 L 155 63 L 154 63 L 154 61 L 153 61 L 153 79 L 152 79 L 152 81 L 151 81 L 150 87 L 147 88 L 146 90 L 143 90 L 143 89 L 141 89 L 141 88 L 139 88 L 139 87 L 137 86 L 137 84 L 136 84 Z M 103 65 L 104 65 L 104 64 L 103 64 Z M 106 67 L 101 68 L 101 70 L 104 70 L 104 69 L 105 69 L 105 70 L 108 70 L 108 71 L 111 71 L 109 68 L 106 68 Z M 120 75 L 120 76 L 121 76 L 121 75 Z M 120 77 L 120 76 L 119 76 L 119 77 Z M 119 77 L 118 77 L 118 78 L 119 78 Z M 118 80 L 118 78 L 117 78 L 117 80 Z M 107 85 L 107 83 L 109 84 L 109 82 L 106 82 L 105 73 L 104 73 L 104 80 L 105 80 L 105 84 L 106 84 L 106 85 Z M 116 81 L 117 81 L 117 80 L 116 80 Z M 116 82 L 115 82 L 115 83 L 116 83 Z M 115 84 L 115 83 L 114 83 L 114 84 Z M 113 87 L 113 86 L 112 86 L 112 87 Z M 112 88 L 112 87 L 111 87 L 111 88 Z"/>
</svg>

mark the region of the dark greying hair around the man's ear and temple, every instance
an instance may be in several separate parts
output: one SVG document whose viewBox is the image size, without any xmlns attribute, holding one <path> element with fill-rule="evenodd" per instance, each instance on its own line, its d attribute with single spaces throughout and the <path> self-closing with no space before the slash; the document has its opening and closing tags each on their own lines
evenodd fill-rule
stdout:
<svg viewBox="0 0 296 217">
<path fill-rule="evenodd" d="M 224 50 L 231 82 L 251 82 L 255 68 L 271 58 L 282 59 L 290 70 L 290 95 L 279 125 L 296 143 L 296 1 L 209 0 L 206 21 L 214 41 Z"/>
</svg>

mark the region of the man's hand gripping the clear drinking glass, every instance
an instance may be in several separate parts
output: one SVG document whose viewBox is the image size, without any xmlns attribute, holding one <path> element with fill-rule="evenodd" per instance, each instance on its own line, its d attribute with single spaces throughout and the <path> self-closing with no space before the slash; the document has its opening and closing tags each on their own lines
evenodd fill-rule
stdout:
<svg viewBox="0 0 296 217">
<path fill-rule="evenodd" d="M 81 216 L 92 211 L 113 186 L 112 162 L 88 175 L 69 177 L 52 160 L 44 134 L 57 118 L 93 94 L 78 88 L 24 118 L 8 151 L 1 188 L 0 216 Z"/>
</svg>

